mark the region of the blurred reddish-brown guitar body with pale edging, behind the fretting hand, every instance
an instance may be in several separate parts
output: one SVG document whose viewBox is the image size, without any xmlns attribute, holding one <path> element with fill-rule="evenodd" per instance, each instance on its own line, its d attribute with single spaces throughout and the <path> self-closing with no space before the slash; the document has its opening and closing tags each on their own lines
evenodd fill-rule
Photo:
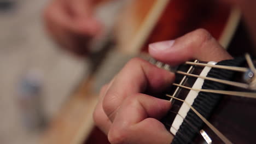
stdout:
<svg viewBox="0 0 256 144">
<path fill-rule="evenodd" d="M 122 15 L 125 19 L 120 21 L 117 28 L 124 31 L 117 31 L 116 34 L 117 47 L 125 53 L 147 51 L 148 43 L 174 39 L 199 27 L 206 28 L 226 47 L 226 41 L 231 39 L 240 17 L 236 9 L 215 1 L 150 0 L 145 5 L 141 0 L 131 1 L 127 8 L 132 8 L 131 13 Z M 137 13 L 138 10 L 142 12 Z M 99 71 L 106 73 L 106 70 Z M 62 113 L 52 123 L 53 127 L 46 133 L 43 143 L 81 143 L 88 139 L 90 141 L 89 134 L 94 128 L 91 115 L 97 101 L 97 92 L 92 90 L 93 83 L 97 81 L 95 77 L 100 76 L 91 75 L 89 80 L 82 82 Z"/>
</svg>

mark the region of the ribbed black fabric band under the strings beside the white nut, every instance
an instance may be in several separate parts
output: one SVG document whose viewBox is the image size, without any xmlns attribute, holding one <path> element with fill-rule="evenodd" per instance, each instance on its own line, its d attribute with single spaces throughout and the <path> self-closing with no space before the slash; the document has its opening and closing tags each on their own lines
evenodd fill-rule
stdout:
<svg viewBox="0 0 256 144">
<path fill-rule="evenodd" d="M 244 62 L 244 57 L 238 57 L 232 60 L 221 61 L 217 64 L 239 67 Z M 214 77 L 222 80 L 231 80 L 233 75 L 234 71 L 212 68 L 207 74 L 207 77 Z M 210 80 L 205 80 L 202 86 L 202 89 L 224 90 L 225 88 L 226 85 Z M 192 106 L 199 113 L 201 113 L 203 117 L 208 118 L 211 116 L 211 113 L 214 107 L 218 104 L 220 98 L 220 94 L 199 92 Z M 197 128 L 197 131 L 191 128 L 191 124 L 193 124 L 194 127 Z M 194 111 L 189 110 L 187 116 L 185 117 L 185 121 L 183 121 L 181 127 L 179 127 L 178 133 L 176 133 L 172 144 L 191 143 L 195 135 L 202 128 L 203 124 L 203 121 L 194 113 Z"/>
</svg>

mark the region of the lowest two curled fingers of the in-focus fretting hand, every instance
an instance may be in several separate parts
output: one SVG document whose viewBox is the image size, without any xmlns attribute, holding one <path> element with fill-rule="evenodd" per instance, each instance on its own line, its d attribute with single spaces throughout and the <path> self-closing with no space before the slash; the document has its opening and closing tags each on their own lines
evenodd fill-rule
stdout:
<svg viewBox="0 0 256 144">
<path fill-rule="evenodd" d="M 125 143 L 125 141 L 171 143 L 172 135 L 157 120 L 165 115 L 170 107 L 170 101 L 139 93 L 130 95 L 118 110 L 109 130 L 109 141 L 111 143 Z M 143 139 L 146 137 L 147 139 Z"/>
</svg>

